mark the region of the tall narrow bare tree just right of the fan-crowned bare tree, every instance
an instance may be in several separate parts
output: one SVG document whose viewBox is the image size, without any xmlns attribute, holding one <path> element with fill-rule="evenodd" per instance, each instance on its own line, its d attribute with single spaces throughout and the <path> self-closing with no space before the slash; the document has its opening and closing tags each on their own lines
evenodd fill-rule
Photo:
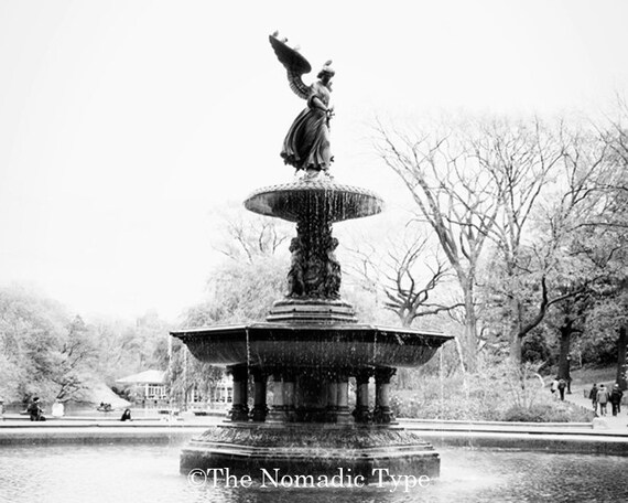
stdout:
<svg viewBox="0 0 628 503">
<path fill-rule="evenodd" d="M 521 341 L 544 317 L 548 307 L 545 276 L 540 275 L 541 299 L 532 320 L 527 319 L 526 283 L 530 282 L 530 226 L 534 211 L 545 195 L 543 189 L 555 175 L 564 148 L 559 133 L 551 131 L 538 118 L 531 121 L 492 120 L 480 124 L 470 138 L 474 154 L 483 169 L 490 173 L 498 190 L 497 215 L 488 237 L 495 247 L 495 259 L 501 272 L 497 293 L 504 299 L 505 317 L 510 327 L 510 355 L 521 360 Z M 495 261 L 494 261 L 495 264 Z"/>
</svg>

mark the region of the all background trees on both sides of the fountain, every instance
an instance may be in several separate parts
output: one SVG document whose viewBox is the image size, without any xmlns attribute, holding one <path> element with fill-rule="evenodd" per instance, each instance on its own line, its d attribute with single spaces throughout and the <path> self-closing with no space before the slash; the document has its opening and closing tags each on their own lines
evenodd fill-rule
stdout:
<svg viewBox="0 0 628 503">
<path fill-rule="evenodd" d="M 364 321 L 456 335 L 455 367 L 483 358 L 616 363 L 628 330 L 628 120 L 464 117 L 411 126 L 376 120 L 382 175 L 411 196 L 408 214 L 369 238 L 340 237 L 343 297 Z M 386 171 L 386 173 L 385 173 Z M 169 330 L 263 320 L 285 293 L 281 221 L 223 208 L 224 260 L 176 323 L 69 314 L 23 288 L 0 289 L 0 396 L 76 399 L 96 382 L 170 371 L 174 394 L 207 394 L 220 371 L 188 357 Z M 387 314 L 388 313 L 388 314 Z M 622 381 L 622 385 L 626 383 Z"/>
</svg>

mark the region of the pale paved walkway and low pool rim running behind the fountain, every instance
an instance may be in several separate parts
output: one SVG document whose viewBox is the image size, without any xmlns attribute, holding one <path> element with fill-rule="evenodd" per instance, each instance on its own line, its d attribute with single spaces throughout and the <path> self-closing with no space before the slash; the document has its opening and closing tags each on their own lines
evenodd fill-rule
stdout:
<svg viewBox="0 0 628 503">
<path fill-rule="evenodd" d="M 591 410 L 585 385 L 572 386 L 565 399 Z M 554 452 L 586 452 L 628 456 L 628 406 L 613 417 L 592 422 L 501 422 L 452 421 L 399 418 L 399 426 L 441 446 L 505 448 Z M 205 431 L 225 417 L 186 416 L 185 418 L 142 418 L 131 422 L 90 417 L 64 417 L 31 422 L 20 415 L 4 415 L 0 420 L 0 447 L 8 445 L 169 442 L 181 443 Z"/>
</svg>

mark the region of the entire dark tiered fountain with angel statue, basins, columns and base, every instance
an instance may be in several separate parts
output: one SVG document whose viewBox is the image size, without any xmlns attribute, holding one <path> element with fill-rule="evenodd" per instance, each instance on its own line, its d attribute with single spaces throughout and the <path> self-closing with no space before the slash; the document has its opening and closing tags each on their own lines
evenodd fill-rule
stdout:
<svg viewBox="0 0 628 503">
<path fill-rule="evenodd" d="M 367 217 L 382 210 L 373 193 L 336 183 L 328 174 L 331 62 L 318 81 L 305 86 L 307 61 L 285 40 L 270 36 L 288 69 L 291 88 L 307 99 L 283 143 L 282 158 L 297 174 L 291 183 L 253 192 L 245 206 L 296 224 L 288 272 L 288 293 L 266 321 L 180 330 L 191 353 L 225 365 L 234 378 L 229 421 L 193 439 L 181 456 L 181 470 L 227 470 L 230 474 L 350 474 L 364 480 L 440 472 L 437 452 L 399 427 L 389 402 L 397 367 L 427 362 L 448 339 L 410 328 L 359 323 L 340 298 L 340 264 L 334 223 Z M 249 378 L 253 381 L 249 409 Z M 349 409 L 355 378 L 356 406 Z M 267 385 L 272 378 L 272 404 Z M 369 408 L 369 381 L 375 407 Z"/>
</svg>

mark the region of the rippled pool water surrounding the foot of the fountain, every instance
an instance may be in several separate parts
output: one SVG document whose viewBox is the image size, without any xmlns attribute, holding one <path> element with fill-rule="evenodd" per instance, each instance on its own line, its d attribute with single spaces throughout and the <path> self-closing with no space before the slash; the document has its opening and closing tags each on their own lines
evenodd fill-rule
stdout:
<svg viewBox="0 0 628 503">
<path fill-rule="evenodd" d="M 133 503 L 619 502 L 628 501 L 626 458 L 440 449 L 441 479 L 408 493 L 390 484 L 344 489 L 191 485 L 181 448 L 164 446 L 4 447 L 0 501 Z"/>
</svg>

